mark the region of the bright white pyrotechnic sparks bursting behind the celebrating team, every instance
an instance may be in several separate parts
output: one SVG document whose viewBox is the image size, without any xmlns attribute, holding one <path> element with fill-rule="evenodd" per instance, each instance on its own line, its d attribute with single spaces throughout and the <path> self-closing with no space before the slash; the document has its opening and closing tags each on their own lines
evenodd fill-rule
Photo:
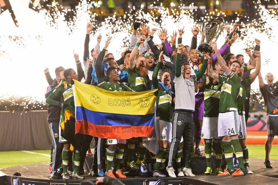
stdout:
<svg viewBox="0 0 278 185">
<path fill-rule="evenodd" d="M 73 49 L 79 54 L 82 61 L 84 39 L 86 34 L 86 23 L 93 23 L 96 27 L 91 34 L 90 48 L 96 44 L 96 37 L 101 33 L 103 39 L 101 48 L 107 36 L 113 39 L 108 47 L 109 52 L 115 58 L 120 58 L 120 53 L 124 51 L 123 46 L 128 46 L 129 34 L 132 29 L 132 15 L 127 22 L 117 20 L 116 16 L 105 19 L 100 25 L 96 25 L 96 14 L 91 15 L 90 9 L 94 3 L 87 4 L 82 1 L 76 8 L 76 17 L 70 22 L 65 21 L 64 13 L 58 11 L 57 6 L 53 7 L 51 14 L 42 10 L 39 13 L 28 8 L 29 0 L 10 0 L 11 6 L 16 15 L 19 27 L 15 27 L 8 11 L 0 15 L 0 73 L 2 76 L 2 87 L 0 96 L 21 95 L 28 97 L 43 98 L 48 86 L 43 70 L 48 67 L 52 77 L 57 66 L 65 68 L 75 68 Z M 155 6 L 155 4 L 154 4 Z M 258 6 L 261 15 L 260 20 L 254 20 L 251 24 L 242 23 L 240 31 L 243 32 L 232 46 L 231 52 L 234 54 L 244 53 L 247 46 L 255 46 L 255 38 L 261 40 L 262 74 L 266 72 L 275 73 L 277 67 L 275 48 L 278 44 L 278 17 L 276 11 L 268 11 L 262 6 Z M 195 24 L 190 11 L 182 10 L 180 13 L 169 15 L 168 9 L 158 10 L 162 15 L 161 21 L 157 21 L 155 15 L 138 12 L 137 20 L 148 22 L 150 28 L 166 28 L 168 33 L 172 33 L 179 28 L 185 27 L 183 43 L 190 45 L 192 33 L 191 27 Z M 54 17 L 54 19 L 53 19 Z M 159 23 L 158 23 L 159 22 Z M 232 23 L 231 23 L 232 26 Z M 199 25 L 200 27 L 200 25 Z M 243 37 L 244 36 L 244 37 Z M 222 32 L 217 40 L 220 47 L 224 43 L 225 33 Z M 200 34 L 198 35 L 198 42 Z M 157 35 L 154 42 L 160 44 Z M 254 82 L 253 88 L 258 86 Z"/>
</svg>

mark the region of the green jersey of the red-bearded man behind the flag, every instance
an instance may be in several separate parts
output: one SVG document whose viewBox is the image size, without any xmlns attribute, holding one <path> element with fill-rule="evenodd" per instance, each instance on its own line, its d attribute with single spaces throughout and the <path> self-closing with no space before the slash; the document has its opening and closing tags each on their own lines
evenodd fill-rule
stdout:
<svg viewBox="0 0 278 185">
<path fill-rule="evenodd" d="M 147 90 L 147 85 L 150 84 L 150 78 L 148 75 L 141 77 L 138 73 L 137 67 L 133 69 L 128 68 L 128 85 L 136 92 L 142 92 Z"/>
</svg>

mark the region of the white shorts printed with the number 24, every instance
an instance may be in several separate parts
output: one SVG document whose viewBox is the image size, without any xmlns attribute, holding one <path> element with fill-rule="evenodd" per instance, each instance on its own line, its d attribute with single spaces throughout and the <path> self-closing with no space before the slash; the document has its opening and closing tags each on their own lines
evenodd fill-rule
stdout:
<svg viewBox="0 0 278 185">
<path fill-rule="evenodd" d="M 218 115 L 218 136 L 238 135 L 238 111 L 219 113 Z"/>
</svg>

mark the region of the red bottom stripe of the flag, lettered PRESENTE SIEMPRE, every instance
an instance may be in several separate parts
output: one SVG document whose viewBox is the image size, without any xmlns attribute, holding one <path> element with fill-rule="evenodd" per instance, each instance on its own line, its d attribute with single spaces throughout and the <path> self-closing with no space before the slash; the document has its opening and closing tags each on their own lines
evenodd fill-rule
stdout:
<svg viewBox="0 0 278 185">
<path fill-rule="evenodd" d="M 152 138 L 154 127 L 152 126 L 110 126 L 94 125 L 84 120 L 76 120 L 75 133 L 82 133 L 107 139 L 130 139 L 132 137 Z"/>
</svg>

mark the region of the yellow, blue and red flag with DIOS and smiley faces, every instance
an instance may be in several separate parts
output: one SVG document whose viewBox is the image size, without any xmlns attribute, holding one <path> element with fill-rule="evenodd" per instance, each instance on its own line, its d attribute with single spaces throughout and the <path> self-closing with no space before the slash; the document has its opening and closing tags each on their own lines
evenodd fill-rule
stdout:
<svg viewBox="0 0 278 185">
<path fill-rule="evenodd" d="M 75 132 L 113 139 L 152 137 L 155 91 L 114 92 L 74 80 Z"/>
</svg>

